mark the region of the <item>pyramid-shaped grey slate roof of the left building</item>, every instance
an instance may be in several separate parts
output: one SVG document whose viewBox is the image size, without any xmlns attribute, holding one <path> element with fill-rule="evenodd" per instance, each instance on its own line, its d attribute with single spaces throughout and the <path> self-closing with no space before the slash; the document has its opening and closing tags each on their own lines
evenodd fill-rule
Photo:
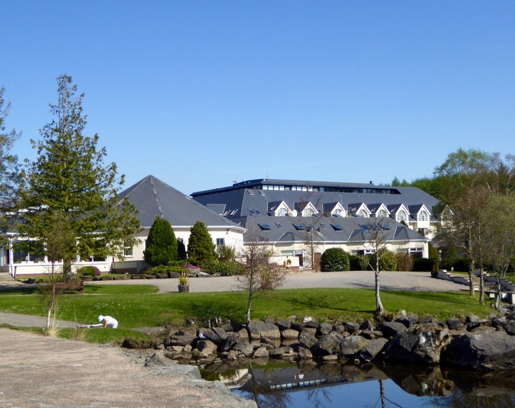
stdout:
<svg viewBox="0 0 515 408">
<path fill-rule="evenodd" d="M 143 180 L 119 193 L 118 196 L 120 200 L 127 197 L 136 207 L 143 228 L 149 228 L 156 216 L 159 216 L 168 220 L 172 227 L 193 226 L 197 221 L 202 221 L 211 227 L 241 229 L 234 222 L 152 175 L 146 176 Z"/>
</svg>

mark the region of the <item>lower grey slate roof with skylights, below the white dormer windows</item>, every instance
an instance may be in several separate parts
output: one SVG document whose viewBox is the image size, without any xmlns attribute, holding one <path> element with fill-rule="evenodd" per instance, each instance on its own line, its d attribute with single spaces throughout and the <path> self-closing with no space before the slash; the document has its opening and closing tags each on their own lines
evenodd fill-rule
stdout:
<svg viewBox="0 0 515 408">
<path fill-rule="evenodd" d="M 317 217 L 317 241 L 325 243 L 363 242 L 369 238 L 369 234 L 360 226 L 373 223 L 374 219 L 362 217 Z M 270 230 L 261 230 L 260 234 L 267 242 L 302 242 L 306 241 L 306 230 L 298 230 L 293 224 L 310 225 L 309 217 L 242 217 L 237 220 L 247 229 L 258 224 L 267 224 Z M 428 241 L 428 239 L 405 225 L 391 218 L 386 219 L 386 225 L 390 227 L 387 239 L 391 241 Z M 279 223 L 281 227 L 277 225 Z M 323 228 L 324 224 L 326 228 Z M 341 230 L 333 225 L 341 226 Z M 244 236 L 245 240 L 245 236 Z"/>
</svg>

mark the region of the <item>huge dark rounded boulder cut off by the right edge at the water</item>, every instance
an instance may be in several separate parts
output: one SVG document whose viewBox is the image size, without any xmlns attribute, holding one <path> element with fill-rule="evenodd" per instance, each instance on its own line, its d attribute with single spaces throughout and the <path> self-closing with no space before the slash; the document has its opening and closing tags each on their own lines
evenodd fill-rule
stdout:
<svg viewBox="0 0 515 408">
<path fill-rule="evenodd" d="M 467 369 L 515 369 L 515 337 L 501 332 L 466 334 L 449 344 L 442 360 Z"/>
</svg>

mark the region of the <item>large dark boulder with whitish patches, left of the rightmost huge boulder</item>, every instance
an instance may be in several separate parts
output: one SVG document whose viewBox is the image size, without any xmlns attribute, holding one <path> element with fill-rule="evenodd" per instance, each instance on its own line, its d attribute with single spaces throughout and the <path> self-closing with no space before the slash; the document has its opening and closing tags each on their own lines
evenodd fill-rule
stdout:
<svg viewBox="0 0 515 408">
<path fill-rule="evenodd" d="M 414 326 L 399 333 L 384 348 L 383 359 L 404 363 L 438 364 L 440 352 L 451 342 L 449 329 Z"/>
</svg>

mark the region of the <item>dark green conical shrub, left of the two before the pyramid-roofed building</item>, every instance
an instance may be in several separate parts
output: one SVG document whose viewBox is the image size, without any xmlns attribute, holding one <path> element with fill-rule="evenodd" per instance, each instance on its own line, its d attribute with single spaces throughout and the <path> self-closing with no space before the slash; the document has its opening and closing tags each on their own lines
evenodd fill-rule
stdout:
<svg viewBox="0 0 515 408">
<path fill-rule="evenodd" d="M 177 238 L 168 220 L 156 216 L 148 232 L 143 251 L 145 261 L 151 265 L 166 265 L 177 260 Z"/>
</svg>

